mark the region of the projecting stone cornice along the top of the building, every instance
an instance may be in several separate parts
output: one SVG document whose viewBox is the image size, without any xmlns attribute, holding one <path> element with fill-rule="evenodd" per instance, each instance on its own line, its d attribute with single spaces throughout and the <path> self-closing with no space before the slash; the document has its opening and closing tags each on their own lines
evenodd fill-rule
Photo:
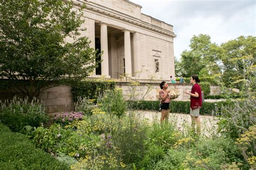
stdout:
<svg viewBox="0 0 256 170">
<path fill-rule="evenodd" d="M 101 14 L 106 15 L 106 16 L 110 16 L 110 17 L 113 17 L 113 18 L 116 18 L 116 19 L 119 19 L 119 20 L 123 20 L 124 22 L 130 23 L 130 24 L 133 24 L 133 25 L 136 25 L 136 26 L 139 26 L 139 27 L 143 27 L 144 29 L 148 29 L 148 30 L 151 30 L 151 31 L 156 31 L 158 33 L 164 34 L 166 36 L 170 36 L 172 38 L 176 37 L 176 34 L 174 34 L 172 31 L 163 29 L 159 26 L 155 26 L 155 25 L 152 25 L 150 23 L 143 22 L 141 19 L 131 17 L 129 15 L 126 15 L 124 13 L 115 11 L 113 9 L 109 9 L 109 8 L 105 8 L 105 7 L 103 9 L 103 6 L 100 6 L 100 5 L 92 3 L 92 2 L 88 3 L 86 1 L 78 0 L 78 1 L 75 1 L 73 3 L 77 6 L 81 6 L 81 5 L 85 4 L 86 5 L 85 9 L 87 9 L 87 10 L 91 10 L 91 11 L 101 13 Z"/>
</svg>

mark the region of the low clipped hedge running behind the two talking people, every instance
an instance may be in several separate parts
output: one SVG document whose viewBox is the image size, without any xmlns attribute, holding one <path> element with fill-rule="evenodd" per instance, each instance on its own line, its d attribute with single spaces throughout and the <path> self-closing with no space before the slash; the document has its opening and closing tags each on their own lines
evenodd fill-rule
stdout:
<svg viewBox="0 0 256 170">
<path fill-rule="evenodd" d="M 128 107 L 130 109 L 138 110 L 159 110 L 159 101 L 129 101 Z M 201 115 L 211 115 L 212 112 L 219 112 L 221 107 L 232 105 L 232 102 L 221 101 L 221 102 L 204 102 L 200 109 Z M 171 101 L 170 112 L 190 114 L 190 101 Z M 218 114 L 218 113 L 217 113 Z"/>
</svg>

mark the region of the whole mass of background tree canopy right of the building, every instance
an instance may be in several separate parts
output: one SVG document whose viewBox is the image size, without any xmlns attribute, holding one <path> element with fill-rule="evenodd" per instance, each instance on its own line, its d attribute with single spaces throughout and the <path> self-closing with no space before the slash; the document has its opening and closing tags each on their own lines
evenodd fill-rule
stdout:
<svg viewBox="0 0 256 170">
<path fill-rule="evenodd" d="M 256 37 L 240 36 L 217 45 L 205 34 L 193 36 L 190 51 L 181 53 L 176 60 L 176 73 L 190 77 L 221 75 L 225 86 L 241 88 L 255 74 Z"/>
</svg>

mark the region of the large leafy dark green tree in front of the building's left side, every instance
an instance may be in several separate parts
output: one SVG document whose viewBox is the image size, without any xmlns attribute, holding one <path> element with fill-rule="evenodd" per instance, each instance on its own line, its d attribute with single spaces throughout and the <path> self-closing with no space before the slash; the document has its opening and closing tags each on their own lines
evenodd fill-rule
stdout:
<svg viewBox="0 0 256 170">
<path fill-rule="evenodd" d="M 1 1 L 2 80 L 13 80 L 17 91 L 32 98 L 56 86 L 52 82 L 89 75 L 95 68 L 96 51 L 86 37 L 79 36 L 84 31 L 82 8 L 60 0 Z M 73 42 L 65 42 L 68 37 Z"/>
</svg>

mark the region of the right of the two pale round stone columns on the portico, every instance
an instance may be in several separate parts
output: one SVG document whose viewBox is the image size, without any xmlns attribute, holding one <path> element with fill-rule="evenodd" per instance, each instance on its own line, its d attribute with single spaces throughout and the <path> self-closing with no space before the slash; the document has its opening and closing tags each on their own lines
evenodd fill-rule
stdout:
<svg viewBox="0 0 256 170">
<path fill-rule="evenodd" d="M 130 31 L 124 30 L 125 74 L 132 75 L 131 37 Z"/>
</svg>

